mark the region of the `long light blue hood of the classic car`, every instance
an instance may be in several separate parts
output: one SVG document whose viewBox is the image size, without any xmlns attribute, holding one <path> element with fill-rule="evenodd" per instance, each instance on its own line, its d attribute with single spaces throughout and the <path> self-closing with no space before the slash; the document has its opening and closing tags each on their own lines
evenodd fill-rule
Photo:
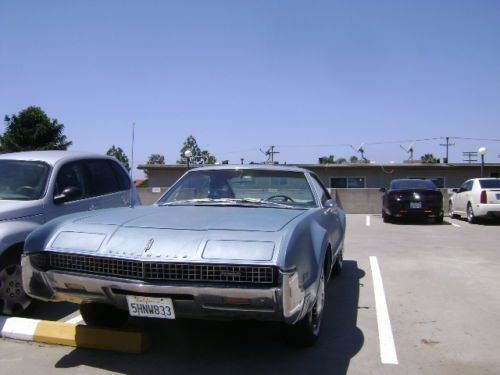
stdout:
<svg viewBox="0 0 500 375">
<path fill-rule="evenodd" d="M 270 261 L 304 210 L 169 206 L 102 210 L 63 223 L 48 248 L 125 258 Z"/>
</svg>

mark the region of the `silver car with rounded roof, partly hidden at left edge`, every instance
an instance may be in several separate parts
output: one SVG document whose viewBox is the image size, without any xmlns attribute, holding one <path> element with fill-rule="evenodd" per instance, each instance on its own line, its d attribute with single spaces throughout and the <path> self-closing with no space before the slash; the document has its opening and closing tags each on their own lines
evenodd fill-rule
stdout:
<svg viewBox="0 0 500 375">
<path fill-rule="evenodd" d="M 61 215 L 138 203 L 125 168 L 114 158 L 70 151 L 0 155 L 0 314 L 25 310 L 21 280 L 29 233 Z"/>
</svg>

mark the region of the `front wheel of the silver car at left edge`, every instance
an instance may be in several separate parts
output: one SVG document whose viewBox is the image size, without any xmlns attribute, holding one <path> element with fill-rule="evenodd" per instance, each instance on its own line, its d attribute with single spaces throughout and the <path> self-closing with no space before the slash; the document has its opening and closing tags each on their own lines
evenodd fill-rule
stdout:
<svg viewBox="0 0 500 375">
<path fill-rule="evenodd" d="M 31 298 L 24 292 L 21 265 L 9 264 L 0 270 L 0 313 L 12 315 L 24 311 Z"/>
</svg>

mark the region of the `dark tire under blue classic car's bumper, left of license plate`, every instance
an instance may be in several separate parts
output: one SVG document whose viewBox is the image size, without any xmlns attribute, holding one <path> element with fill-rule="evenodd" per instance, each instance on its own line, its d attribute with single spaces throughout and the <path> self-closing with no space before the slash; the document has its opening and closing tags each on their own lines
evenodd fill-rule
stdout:
<svg viewBox="0 0 500 375">
<path fill-rule="evenodd" d="M 83 303 L 80 305 L 83 321 L 89 326 L 120 328 L 127 324 L 127 311 L 105 303 Z"/>
</svg>

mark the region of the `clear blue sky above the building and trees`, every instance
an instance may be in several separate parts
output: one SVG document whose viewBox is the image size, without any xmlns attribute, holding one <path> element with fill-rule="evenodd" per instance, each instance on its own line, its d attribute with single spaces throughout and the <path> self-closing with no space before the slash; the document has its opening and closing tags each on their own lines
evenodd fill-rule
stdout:
<svg viewBox="0 0 500 375">
<path fill-rule="evenodd" d="M 71 149 L 128 154 L 135 121 L 138 163 L 175 163 L 190 134 L 220 160 L 277 145 L 288 163 L 500 138 L 498 0 L 0 0 L 0 54 L 2 116 L 41 106 Z M 500 142 L 453 142 L 451 161 L 484 145 L 500 162 Z"/>
</svg>

